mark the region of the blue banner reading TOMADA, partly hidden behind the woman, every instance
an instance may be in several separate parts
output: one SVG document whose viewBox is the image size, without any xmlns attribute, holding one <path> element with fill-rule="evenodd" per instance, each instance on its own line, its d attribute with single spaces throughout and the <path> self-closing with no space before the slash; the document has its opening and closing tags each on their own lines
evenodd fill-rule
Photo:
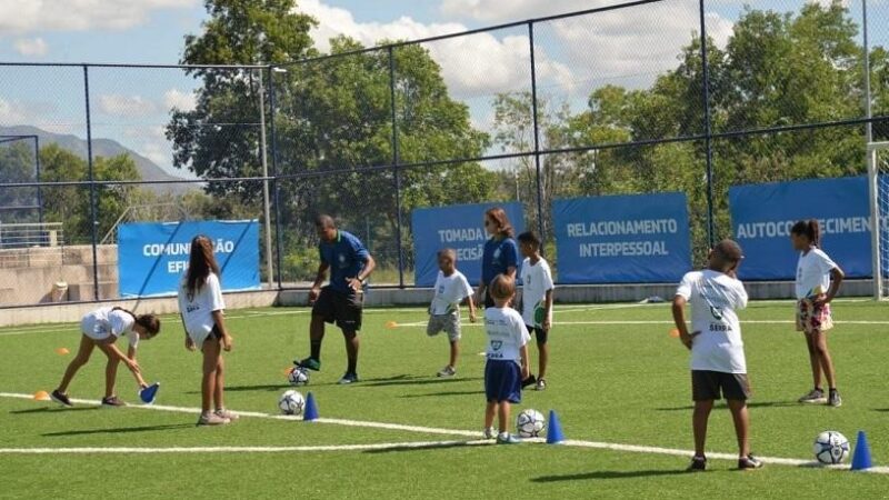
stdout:
<svg viewBox="0 0 889 500">
<path fill-rule="evenodd" d="M 516 234 L 525 231 L 521 203 L 455 204 L 416 209 L 411 213 L 413 229 L 414 282 L 432 287 L 438 276 L 437 253 L 442 248 L 457 250 L 457 269 L 473 287 L 481 280 L 481 253 L 488 233 L 485 231 L 485 211 L 500 207 L 507 212 Z M 521 256 L 519 256 L 521 257 Z"/>
</svg>

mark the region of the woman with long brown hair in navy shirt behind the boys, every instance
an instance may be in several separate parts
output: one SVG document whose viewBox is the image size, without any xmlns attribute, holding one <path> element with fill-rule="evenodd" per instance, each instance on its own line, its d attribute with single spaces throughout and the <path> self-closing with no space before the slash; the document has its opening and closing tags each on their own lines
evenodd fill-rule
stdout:
<svg viewBox="0 0 889 500">
<path fill-rule="evenodd" d="M 476 293 L 477 302 L 485 300 L 485 307 L 493 307 L 493 299 L 488 293 L 488 287 L 497 274 L 507 274 L 516 279 L 519 266 L 519 247 L 512 238 L 512 224 L 509 223 L 507 212 L 500 207 L 488 209 L 485 212 L 485 230 L 490 238 L 485 242 L 485 253 L 481 260 L 481 282 Z"/>
</svg>

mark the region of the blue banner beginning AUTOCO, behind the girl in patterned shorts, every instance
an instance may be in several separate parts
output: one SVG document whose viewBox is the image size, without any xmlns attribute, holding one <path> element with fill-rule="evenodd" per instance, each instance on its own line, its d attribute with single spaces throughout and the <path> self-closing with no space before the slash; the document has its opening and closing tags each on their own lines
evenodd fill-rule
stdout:
<svg viewBox="0 0 889 500">
<path fill-rule="evenodd" d="M 795 279 L 799 253 L 790 244 L 790 228 L 803 219 L 820 221 L 821 247 L 847 277 L 870 278 L 866 177 L 736 186 L 729 189 L 729 204 L 735 238 L 745 252 L 739 278 Z"/>
</svg>

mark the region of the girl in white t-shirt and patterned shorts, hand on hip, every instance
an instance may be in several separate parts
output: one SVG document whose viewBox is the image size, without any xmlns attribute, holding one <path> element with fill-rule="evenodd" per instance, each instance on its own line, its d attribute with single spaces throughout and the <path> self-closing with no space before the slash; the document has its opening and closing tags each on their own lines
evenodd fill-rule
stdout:
<svg viewBox="0 0 889 500">
<path fill-rule="evenodd" d="M 833 328 L 830 301 L 837 296 L 845 274 L 830 257 L 821 251 L 821 229 L 815 219 L 801 220 L 790 228 L 790 241 L 799 251 L 797 262 L 797 330 L 806 334 L 815 388 L 799 399 L 805 403 L 842 404 L 837 391 L 833 361 L 827 349 L 827 331 Z M 821 372 L 828 383 L 828 397 L 821 388 Z"/>
</svg>

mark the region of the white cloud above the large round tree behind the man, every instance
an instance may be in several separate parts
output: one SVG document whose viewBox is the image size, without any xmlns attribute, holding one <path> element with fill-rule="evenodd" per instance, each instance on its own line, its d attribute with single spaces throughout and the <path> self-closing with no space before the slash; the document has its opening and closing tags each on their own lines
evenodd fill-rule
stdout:
<svg viewBox="0 0 889 500">
<path fill-rule="evenodd" d="M 387 23 L 358 22 L 348 10 L 327 6 L 320 0 L 303 0 L 298 8 L 319 21 L 310 34 L 322 51 L 328 51 L 329 39 L 339 34 L 354 38 L 364 46 L 373 46 L 380 40 L 414 40 L 467 30 L 465 24 L 457 22 L 424 24 L 408 17 Z M 477 33 L 426 43 L 423 47 L 441 66 L 442 78 L 450 91 L 466 98 L 530 90 L 528 43 L 525 34 L 498 38 L 491 33 Z M 570 84 L 571 71 L 566 64 L 550 60 L 545 50 L 538 50 L 536 58 L 540 79 Z"/>
</svg>

